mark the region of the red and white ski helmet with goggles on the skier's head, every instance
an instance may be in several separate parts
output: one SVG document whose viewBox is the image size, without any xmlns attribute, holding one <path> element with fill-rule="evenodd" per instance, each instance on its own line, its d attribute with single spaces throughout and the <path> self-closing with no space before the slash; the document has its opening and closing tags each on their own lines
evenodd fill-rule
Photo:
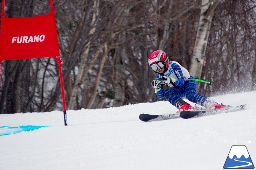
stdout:
<svg viewBox="0 0 256 170">
<path fill-rule="evenodd" d="M 162 50 L 157 50 L 149 55 L 148 65 L 154 72 L 156 72 L 157 69 L 161 70 L 163 67 L 164 72 L 166 72 L 169 68 L 169 59 L 165 52 Z"/>
</svg>

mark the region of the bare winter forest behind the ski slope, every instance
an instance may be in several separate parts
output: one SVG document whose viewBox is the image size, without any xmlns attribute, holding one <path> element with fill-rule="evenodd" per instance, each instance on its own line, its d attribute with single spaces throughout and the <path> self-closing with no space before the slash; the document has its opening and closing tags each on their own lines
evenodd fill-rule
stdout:
<svg viewBox="0 0 256 170">
<path fill-rule="evenodd" d="M 213 82 L 198 83 L 198 93 L 256 90 L 256 0 L 53 3 L 67 109 L 159 100 L 148 66 L 148 56 L 159 49 L 195 78 Z M 6 0 L 5 17 L 49 12 L 48 0 Z M 53 57 L 2 62 L 0 113 L 53 110 L 62 110 Z"/>
</svg>

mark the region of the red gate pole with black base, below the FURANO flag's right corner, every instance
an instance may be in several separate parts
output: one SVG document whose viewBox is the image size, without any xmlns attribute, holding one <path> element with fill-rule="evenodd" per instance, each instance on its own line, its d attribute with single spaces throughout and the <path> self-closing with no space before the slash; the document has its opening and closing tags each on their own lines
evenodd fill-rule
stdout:
<svg viewBox="0 0 256 170">
<path fill-rule="evenodd" d="M 54 57 L 59 65 L 59 72 L 60 72 L 60 86 L 61 86 L 61 94 L 62 94 L 62 104 L 63 104 L 63 114 L 64 114 L 64 124 L 68 126 L 67 121 L 67 111 L 66 111 L 66 102 L 65 102 L 65 92 L 64 92 L 64 85 L 63 85 L 63 77 L 62 77 L 62 69 L 61 69 L 61 59 L 59 57 Z"/>
</svg>

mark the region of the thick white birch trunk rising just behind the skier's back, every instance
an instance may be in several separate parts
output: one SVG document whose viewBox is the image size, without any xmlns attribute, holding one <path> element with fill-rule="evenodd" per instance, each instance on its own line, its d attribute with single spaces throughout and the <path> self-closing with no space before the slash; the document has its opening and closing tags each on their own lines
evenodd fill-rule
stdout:
<svg viewBox="0 0 256 170">
<path fill-rule="evenodd" d="M 190 75 L 194 78 L 200 78 L 202 68 L 205 62 L 206 47 L 211 28 L 211 21 L 214 15 L 214 9 L 221 0 L 202 0 L 200 19 L 198 23 L 196 40 L 193 55 L 190 61 Z"/>
</svg>

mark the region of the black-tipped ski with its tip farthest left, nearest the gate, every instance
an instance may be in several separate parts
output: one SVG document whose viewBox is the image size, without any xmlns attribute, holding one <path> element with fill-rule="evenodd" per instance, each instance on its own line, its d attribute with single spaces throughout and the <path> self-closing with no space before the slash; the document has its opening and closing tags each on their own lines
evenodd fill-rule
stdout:
<svg viewBox="0 0 256 170">
<path fill-rule="evenodd" d="M 179 118 L 179 113 L 175 114 L 159 114 L 159 115 L 152 115 L 152 114 L 140 114 L 139 119 L 143 122 L 148 121 L 157 121 L 157 120 L 168 120 L 168 119 L 176 119 Z"/>
</svg>

